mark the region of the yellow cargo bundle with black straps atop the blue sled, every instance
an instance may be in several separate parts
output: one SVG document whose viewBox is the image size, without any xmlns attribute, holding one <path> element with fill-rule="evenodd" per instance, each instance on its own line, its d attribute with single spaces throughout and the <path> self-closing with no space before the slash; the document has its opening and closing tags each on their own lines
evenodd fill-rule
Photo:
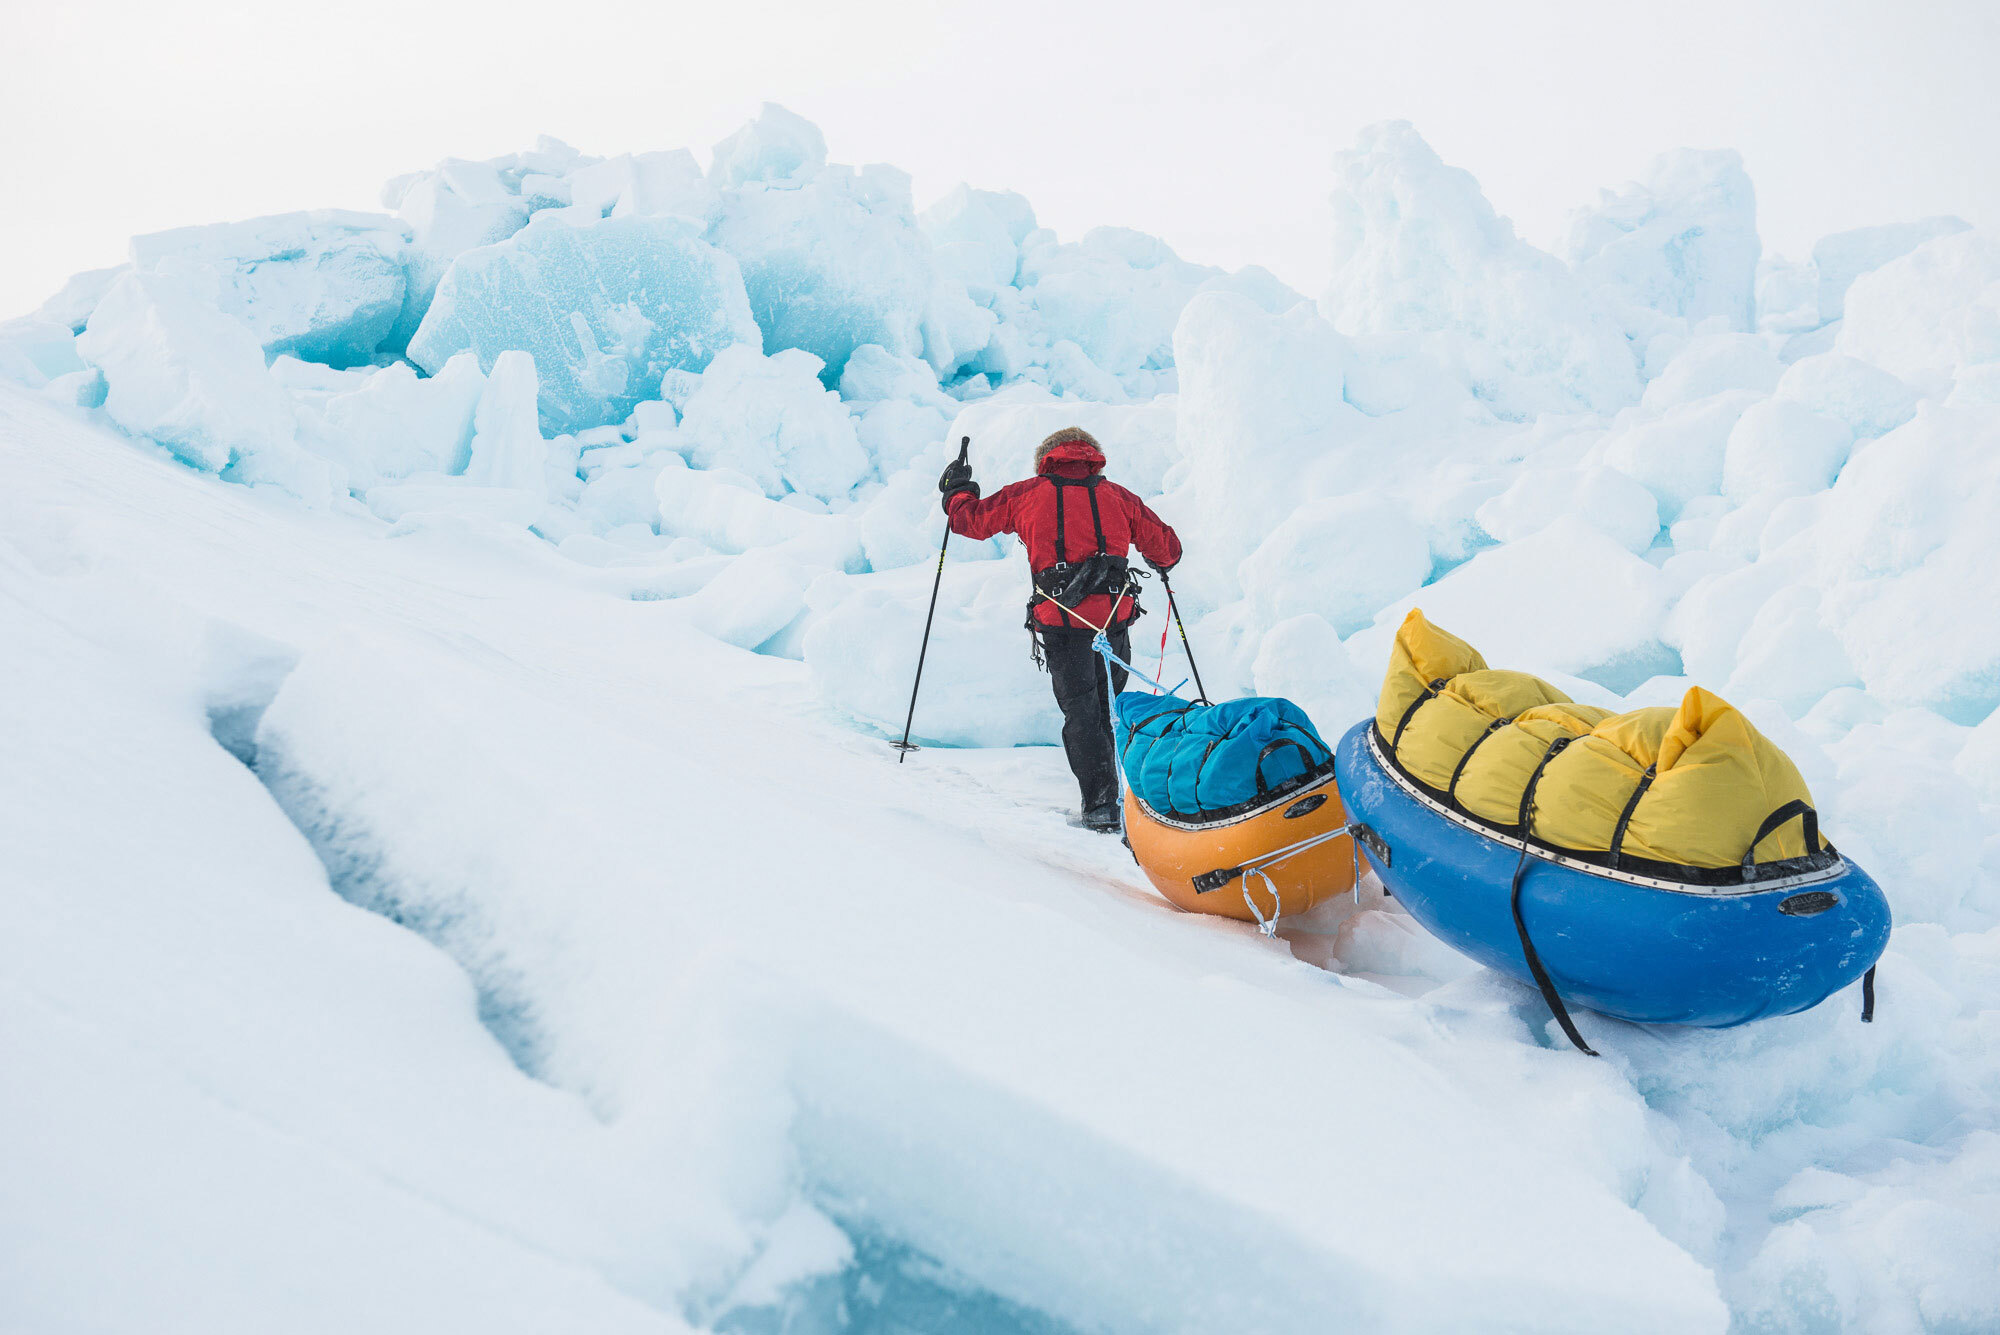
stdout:
<svg viewBox="0 0 2000 1335">
<path fill-rule="evenodd" d="M 1792 759 L 1698 685 L 1676 709 L 1610 713 L 1540 677 L 1488 669 L 1472 646 L 1420 612 L 1396 632 L 1376 727 L 1384 741 L 1400 729 L 1394 753 L 1406 773 L 1490 825 L 1520 823 L 1540 767 L 1534 837 L 1584 853 L 1612 851 L 1624 819 L 1620 857 L 1734 867 L 1770 813 L 1812 805 Z M 1570 741 L 1550 755 L 1558 737 Z M 1758 843 L 1756 861 L 1808 851 L 1802 823 L 1790 819 Z"/>
</svg>

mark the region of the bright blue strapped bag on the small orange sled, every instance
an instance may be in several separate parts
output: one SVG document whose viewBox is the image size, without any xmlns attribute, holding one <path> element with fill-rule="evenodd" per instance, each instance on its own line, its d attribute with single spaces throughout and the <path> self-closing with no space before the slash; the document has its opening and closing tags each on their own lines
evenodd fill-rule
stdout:
<svg viewBox="0 0 2000 1335">
<path fill-rule="evenodd" d="M 1290 699 L 1202 705 L 1124 691 L 1112 711 L 1126 783 L 1154 813 L 1214 821 L 1332 771 L 1334 751 Z"/>
</svg>

